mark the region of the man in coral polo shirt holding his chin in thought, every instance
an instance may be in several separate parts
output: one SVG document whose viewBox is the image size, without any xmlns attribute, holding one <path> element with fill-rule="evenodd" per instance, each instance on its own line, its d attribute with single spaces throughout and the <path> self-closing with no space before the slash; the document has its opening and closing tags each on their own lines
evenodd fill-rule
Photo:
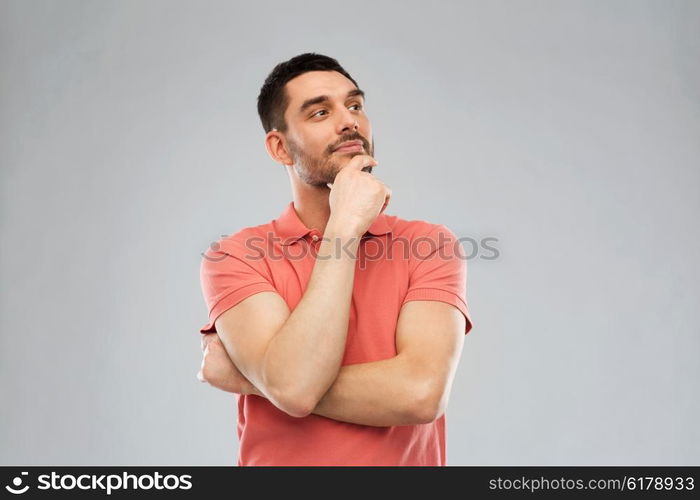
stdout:
<svg viewBox="0 0 700 500">
<path fill-rule="evenodd" d="M 364 92 L 335 59 L 278 64 L 258 113 L 293 202 L 201 265 L 198 378 L 238 395 L 238 464 L 445 465 L 472 326 L 459 241 L 384 213 Z"/>
</svg>

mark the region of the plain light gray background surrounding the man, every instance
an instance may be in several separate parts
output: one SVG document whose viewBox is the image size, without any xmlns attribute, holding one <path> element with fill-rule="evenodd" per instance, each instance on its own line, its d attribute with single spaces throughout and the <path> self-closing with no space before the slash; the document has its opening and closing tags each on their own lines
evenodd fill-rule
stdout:
<svg viewBox="0 0 700 500">
<path fill-rule="evenodd" d="M 700 463 L 700 3 L 0 1 L 0 463 L 235 464 L 200 253 L 276 217 L 255 102 L 337 58 L 387 213 L 498 238 L 448 463 Z M 466 248 L 466 247 L 465 247 Z"/>
</svg>

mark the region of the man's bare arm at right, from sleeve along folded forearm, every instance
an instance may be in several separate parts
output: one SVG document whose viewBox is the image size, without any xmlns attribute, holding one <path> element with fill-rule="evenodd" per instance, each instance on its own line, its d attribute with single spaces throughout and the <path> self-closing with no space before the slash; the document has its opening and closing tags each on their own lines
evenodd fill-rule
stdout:
<svg viewBox="0 0 700 500">
<path fill-rule="evenodd" d="M 362 425 L 432 422 L 447 407 L 466 319 L 433 300 L 406 302 L 396 328 L 393 358 L 341 367 L 313 413 Z"/>
</svg>

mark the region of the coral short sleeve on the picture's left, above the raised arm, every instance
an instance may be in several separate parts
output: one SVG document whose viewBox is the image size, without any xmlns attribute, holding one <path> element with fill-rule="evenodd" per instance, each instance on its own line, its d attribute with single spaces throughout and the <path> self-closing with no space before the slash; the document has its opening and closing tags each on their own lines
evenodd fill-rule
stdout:
<svg viewBox="0 0 700 500">
<path fill-rule="evenodd" d="M 207 248 L 202 254 L 200 283 L 209 321 L 200 328 L 200 333 L 216 332 L 216 319 L 251 295 L 276 292 L 266 274 L 262 253 L 246 248 L 240 233 Z"/>
</svg>

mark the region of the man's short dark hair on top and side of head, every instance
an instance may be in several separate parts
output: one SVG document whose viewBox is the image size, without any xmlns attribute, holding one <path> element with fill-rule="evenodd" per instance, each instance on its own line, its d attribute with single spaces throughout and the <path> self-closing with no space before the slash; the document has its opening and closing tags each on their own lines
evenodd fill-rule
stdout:
<svg viewBox="0 0 700 500">
<path fill-rule="evenodd" d="M 289 96 L 284 86 L 292 78 L 308 71 L 337 71 L 358 86 L 337 60 L 322 54 L 306 52 L 279 63 L 265 79 L 258 95 L 258 115 L 265 133 L 273 128 L 283 133 L 287 131 L 284 112 L 289 106 Z"/>
</svg>

